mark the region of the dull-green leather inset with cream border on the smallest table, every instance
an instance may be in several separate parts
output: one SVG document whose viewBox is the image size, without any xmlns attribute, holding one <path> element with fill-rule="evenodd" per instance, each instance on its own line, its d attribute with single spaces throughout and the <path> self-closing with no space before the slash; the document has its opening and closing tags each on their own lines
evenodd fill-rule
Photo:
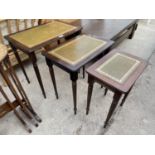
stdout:
<svg viewBox="0 0 155 155">
<path fill-rule="evenodd" d="M 136 69 L 139 63 L 140 62 L 134 58 L 116 53 L 97 68 L 97 71 L 102 75 L 122 83 Z"/>
</svg>

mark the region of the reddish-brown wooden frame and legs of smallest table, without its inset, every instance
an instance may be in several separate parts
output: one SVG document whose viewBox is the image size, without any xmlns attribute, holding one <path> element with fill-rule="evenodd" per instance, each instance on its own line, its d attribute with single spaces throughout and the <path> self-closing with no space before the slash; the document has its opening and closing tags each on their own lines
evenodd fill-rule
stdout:
<svg viewBox="0 0 155 155">
<path fill-rule="evenodd" d="M 127 57 L 130 57 L 132 59 L 136 59 L 140 62 L 138 64 L 138 66 L 130 73 L 130 75 L 127 77 L 127 79 L 125 81 L 123 81 L 123 83 L 115 81 L 112 78 L 108 77 L 107 75 L 101 74 L 100 72 L 97 71 L 97 69 L 100 66 L 102 66 L 103 64 L 107 64 L 109 62 L 108 60 L 110 60 L 113 56 L 117 55 L 117 53 L 119 53 L 121 55 L 125 55 Z M 98 62 L 96 62 L 95 64 L 90 66 L 87 69 L 88 84 L 89 85 L 88 85 L 86 114 L 89 113 L 89 109 L 90 109 L 90 102 L 91 102 L 93 84 L 94 84 L 94 82 L 97 82 L 106 88 L 105 89 L 105 95 L 106 95 L 108 89 L 111 90 L 112 92 L 114 92 L 113 101 L 111 103 L 111 106 L 110 106 L 110 109 L 109 109 L 109 112 L 108 112 L 108 115 L 107 115 L 107 118 L 106 118 L 106 121 L 104 124 L 104 127 L 106 127 L 110 118 L 112 117 L 112 114 L 113 114 L 116 106 L 119 103 L 121 96 L 124 94 L 124 97 L 121 101 L 120 106 L 122 106 L 124 104 L 124 102 L 125 102 L 127 96 L 129 95 L 134 83 L 136 82 L 138 77 L 142 74 L 142 72 L 144 71 L 146 66 L 147 66 L 147 63 L 144 60 L 142 60 L 136 56 L 127 54 L 127 53 L 126 54 L 121 53 L 118 50 L 112 50 L 105 57 L 103 57 Z"/>
</svg>

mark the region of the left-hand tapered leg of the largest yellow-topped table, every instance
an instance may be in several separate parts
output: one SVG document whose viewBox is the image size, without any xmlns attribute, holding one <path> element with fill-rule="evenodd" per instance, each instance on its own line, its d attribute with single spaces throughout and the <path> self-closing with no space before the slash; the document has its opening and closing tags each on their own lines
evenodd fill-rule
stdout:
<svg viewBox="0 0 155 155">
<path fill-rule="evenodd" d="M 30 80 L 29 80 L 29 78 L 27 76 L 24 65 L 23 65 L 23 63 L 21 61 L 21 58 L 20 58 L 18 52 L 17 52 L 17 49 L 11 43 L 10 43 L 10 46 L 11 46 L 12 50 L 14 51 L 15 57 L 16 57 L 16 59 L 18 61 L 18 64 L 20 65 L 20 67 L 21 67 L 21 69 L 23 71 L 23 74 L 25 75 L 25 78 L 26 78 L 27 82 L 30 83 Z"/>
</svg>

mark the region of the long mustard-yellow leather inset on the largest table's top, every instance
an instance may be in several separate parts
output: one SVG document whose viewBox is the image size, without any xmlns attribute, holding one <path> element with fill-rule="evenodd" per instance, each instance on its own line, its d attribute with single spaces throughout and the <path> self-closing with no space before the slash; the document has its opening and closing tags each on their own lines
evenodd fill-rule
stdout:
<svg viewBox="0 0 155 155">
<path fill-rule="evenodd" d="M 13 34 L 10 37 L 20 42 L 21 44 L 32 48 L 74 29 L 76 29 L 75 26 L 64 24 L 58 21 L 52 21 L 48 24 Z"/>
</svg>

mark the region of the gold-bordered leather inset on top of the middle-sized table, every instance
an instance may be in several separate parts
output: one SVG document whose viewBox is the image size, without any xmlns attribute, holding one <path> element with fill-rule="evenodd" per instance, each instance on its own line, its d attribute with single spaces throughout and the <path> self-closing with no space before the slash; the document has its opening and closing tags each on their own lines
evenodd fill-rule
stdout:
<svg viewBox="0 0 155 155">
<path fill-rule="evenodd" d="M 76 64 L 93 52 L 96 52 L 97 49 L 103 47 L 105 44 L 106 42 L 103 40 L 82 35 L 63 46 L 52 50 L 49 54 L 70 64 Z"/>
</svg>

